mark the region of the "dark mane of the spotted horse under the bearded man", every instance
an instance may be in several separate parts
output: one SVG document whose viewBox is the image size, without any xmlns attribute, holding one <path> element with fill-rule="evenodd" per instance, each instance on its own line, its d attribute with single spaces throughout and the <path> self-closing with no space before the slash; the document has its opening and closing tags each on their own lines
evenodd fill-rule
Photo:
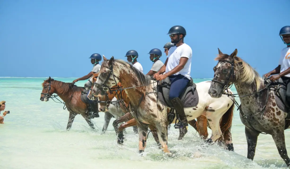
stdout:
<svg viewBox="0 0 290 169">
<path fill-rule="evenodd" d="M 133 65 L 125 62 L 124 60 L 120 60 L 120 59 L 116 59 L 115 62 L 120 63 L 121 65 L 123 65 L 124 67 L 127 67 L 128 69 L 131 69 L 135 73 L 135 75 L 136 75 L 137 79 L 139 80 L 139 82 L 141 83 L 141 85 L 144 85 L 144 86 L 142 86 L 143 88 L 146 89 L 146 87 L 147 87 L 146 84 L 151 83 L 151 80 L 152 80 L 151 76 L 143 74 L 141 71 L 139 71 L 138 69 L 133 67 Z"/>
</svg>

